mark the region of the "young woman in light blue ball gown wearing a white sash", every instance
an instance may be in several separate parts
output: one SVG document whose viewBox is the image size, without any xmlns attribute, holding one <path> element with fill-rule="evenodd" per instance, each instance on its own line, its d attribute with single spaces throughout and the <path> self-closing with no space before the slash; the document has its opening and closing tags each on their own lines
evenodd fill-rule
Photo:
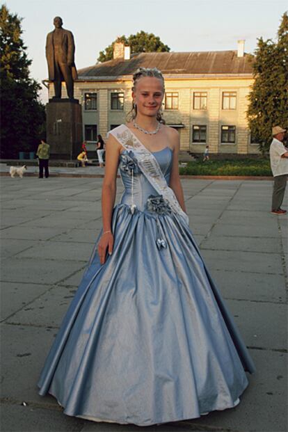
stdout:
<svg viewBox="0 0 288 432">
<path fill-rule="evenodd" d="M 161 72 L 138 70 L 132 94 L 106 142 L 103 230 L 39 385 L 67 415 L 147 426 L 236 406 L 254 365 L 189 230 Z"/>
</svg>

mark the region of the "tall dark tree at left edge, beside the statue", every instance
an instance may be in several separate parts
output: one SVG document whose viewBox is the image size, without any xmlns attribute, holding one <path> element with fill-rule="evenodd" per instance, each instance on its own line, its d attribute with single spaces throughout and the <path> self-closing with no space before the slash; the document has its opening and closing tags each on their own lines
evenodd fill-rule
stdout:
<svg viewBox="0 0 288 432">
<path fill-rule="evenodd" d="M 29 75 L 31 60 L 21 38 L 22 18 L 0 9 L 1 157 L 35 150 L 45 122 L 40 85 Z"/>
</svg>

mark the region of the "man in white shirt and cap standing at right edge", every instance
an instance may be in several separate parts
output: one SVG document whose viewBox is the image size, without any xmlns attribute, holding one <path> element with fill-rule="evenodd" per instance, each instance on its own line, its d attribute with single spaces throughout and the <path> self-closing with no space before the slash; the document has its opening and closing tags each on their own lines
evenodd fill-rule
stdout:
<svg viewBox="0 0 288 432">
<path fill-rule="evenodd" d="M 288 149 L 283 144 L 286 129 L 280 126 L 272 128 L 273 140 L 270 145 L 270 163 L 274 177 L 272 209 L 273 214 L 285 214 L 281 209 L 288 177 Z"/>
</svg>

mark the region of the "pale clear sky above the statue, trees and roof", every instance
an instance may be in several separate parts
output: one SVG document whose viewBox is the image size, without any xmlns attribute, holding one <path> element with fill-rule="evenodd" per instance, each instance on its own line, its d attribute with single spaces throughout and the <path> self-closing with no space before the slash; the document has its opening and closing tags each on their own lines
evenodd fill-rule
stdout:
<svg viewBox="0 0 288 432">
<path fill-rule="evenodd" d="M 6 0 L 10 13 L 22 17 L 22 38 L 33 61 L 31 77 L 47 78 L 46 36 L 61 16 L 63 28 L 72 31 L 77 69 L 94 65 L 99 51 L 119 35 L 147 31 L 159 36 L 171 51 L 222 51 L 253 53 L 257 38 L 275 40 L 287 0 Z M 47 102 L 47 89 L 40 98 Z"/>
</svg>

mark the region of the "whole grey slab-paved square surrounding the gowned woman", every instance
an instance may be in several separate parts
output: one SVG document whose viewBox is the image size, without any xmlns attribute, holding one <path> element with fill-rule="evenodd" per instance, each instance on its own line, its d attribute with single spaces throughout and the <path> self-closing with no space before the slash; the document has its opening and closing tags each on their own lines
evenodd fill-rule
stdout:
<svg viewBox="0 0 288 432">
<path fill-rule="evenodd" d="M 36 387 L 101 229 L 101 185 L 90 177 L 1 177 L 3 431 L 142 430 L 67 417 Z M 287 431 L 288 216 L 269 213 L 273 182 L 184 179 L 183 186 L 191 230 L 257 372 L 237 408 L 145 429 Z M 117 199 L 121 191 L 119 181 Z"/>
</svg>

